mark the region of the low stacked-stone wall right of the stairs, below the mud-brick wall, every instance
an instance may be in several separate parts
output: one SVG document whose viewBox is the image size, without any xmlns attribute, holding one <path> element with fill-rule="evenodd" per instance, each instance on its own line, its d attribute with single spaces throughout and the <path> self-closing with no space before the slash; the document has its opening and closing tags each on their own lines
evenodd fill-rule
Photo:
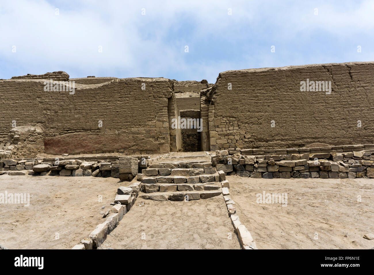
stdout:
<svg viewBox="0 0 374 275">
<path fill-rule="evenodd" d="M 289 155 L 229 155 L 222 150 L 216 151 L 212 165 L 228 175 L 251 178 L 374 178 L 374 150 Z"/>
</svg>

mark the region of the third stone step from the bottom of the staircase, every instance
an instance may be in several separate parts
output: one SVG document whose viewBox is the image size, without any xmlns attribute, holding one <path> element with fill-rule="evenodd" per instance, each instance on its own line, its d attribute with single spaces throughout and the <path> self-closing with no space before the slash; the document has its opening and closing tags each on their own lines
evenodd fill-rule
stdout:
<svg viewBox="0 0 374 275">
<path fill-rule="evenodd" d="M 213 181 L 220 181 L 220 175 L 217 173 L 215 174 L 202 174 L 196 176 L 177 176 L 177 175 L 170 175 L 170 176 L 155 176 L 155 177 L 138 177 L 138 180 L 141 180 L 142 183 L 147 184 L 156 184 L 156 183 L 175 183 L 175 184 L 196 184 L 196 183 L 208 183 Z"/>
</svg>

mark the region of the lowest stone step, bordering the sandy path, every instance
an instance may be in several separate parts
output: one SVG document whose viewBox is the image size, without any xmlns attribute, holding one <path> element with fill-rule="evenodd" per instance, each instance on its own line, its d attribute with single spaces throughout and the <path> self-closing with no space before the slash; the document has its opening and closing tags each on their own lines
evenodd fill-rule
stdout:
<svg viewBox="0 0 374 275">
<path fill-rule="evenodd" d="M 186 192 L 155 192 L 155 193 L 140 193 L 138 198 L 151 199 L 153 201 L 191 201 L 196 199 L 209 199 L 215 196 L 220 196 L 222 190 L 214 191 L 186 191 Z M 188 197 L 187 197 L 188 196 Z"/>
</svg>

